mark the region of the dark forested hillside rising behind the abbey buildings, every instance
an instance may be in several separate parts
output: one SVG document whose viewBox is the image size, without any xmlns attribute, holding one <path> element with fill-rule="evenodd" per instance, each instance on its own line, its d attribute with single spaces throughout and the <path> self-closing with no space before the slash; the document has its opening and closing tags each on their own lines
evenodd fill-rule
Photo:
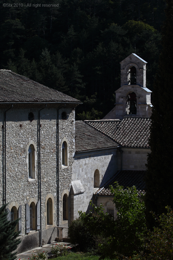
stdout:
<svg viewBox="0 0 173 260">
<path fill-rule="evenodd" d="M 101 119 L 114 107 L 119 62 L 131 53 L 148 62 L 146 87 L 153 89 L 165 1 L 4 3 L 0 1 L 1 68 L 82 101 L 76 119 Z"/>
</svg>

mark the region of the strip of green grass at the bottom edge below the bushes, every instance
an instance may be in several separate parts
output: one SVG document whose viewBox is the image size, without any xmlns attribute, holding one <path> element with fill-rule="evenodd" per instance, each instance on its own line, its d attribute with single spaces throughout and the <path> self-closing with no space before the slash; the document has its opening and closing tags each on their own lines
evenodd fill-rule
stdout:
<svg viewBox="0 0 173 260">
<path fill-rule="evenodd" d="M 72 253 L 70 252 L 68 255 L 59 256 L 57 258 L 53 258 L 51 260 L 98 260 L 98 255 L 91 255 L 89 253 Z"/>
</svg>

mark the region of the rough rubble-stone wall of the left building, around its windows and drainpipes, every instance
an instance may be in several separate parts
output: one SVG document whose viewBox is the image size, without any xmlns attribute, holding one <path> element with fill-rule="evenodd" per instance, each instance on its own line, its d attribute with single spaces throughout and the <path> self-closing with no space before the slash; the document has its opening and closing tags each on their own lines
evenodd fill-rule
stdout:
<svg viewBox="0 0 173 260">
<path fill-rule="evenodd" d="M 4 110 L 0 110 L 0 122 L 3 125 Z M 6 201 L 9 206 L 16 203 L 16 207 L 22 205 L 22 243 L 19 251 L 26 251 L 38 246 L 39 232 L 31 231 L 28 235 L 25 226 L 25 204 L 33 200 L 35 204 L 39 199 L 38 195 L 38 111 L 39 109 L 10 109 L 7 112 L 6 123 Z M 67 120 L 61 120 L 62 111 L 67 112 Z M 28 120 L 28 114 L 34 114 L 34 120 Z M 45 243 L 50 242 L 57 236 L 57 109 L 45 108 L 41 112 L 41 185 L 42 185 L 42 237 Z M 61 194 L 64 189 L 70 188 L 72 175 L 72 153 L 74 150 L 74 130 L 75 121 L 74 110 L 72 108 L 59 110 L 59 146 L 61 148 L 61 140 L 66 138 L 69 146 L 69 166 L 66 169 L 61 167 L 61 158 L 59 150 L 59 177 L 60 177 L 60 206 Z M 20 124 L 22 127 L 20 127 Z M 2 204 L 2 179 L 3 179 L 3 135 L 4 129 L 1 128 L 0 152 L 1 152 L 1 187 L 0 199 Z M 28 181 L 27 172 L 27 145 L 32 141 L 35 143 L 35 159 L 36 159 L 36 178 L 34 181 Z M 46 197 L 51 194 L 53 200 L 53 225 L 46 226 Z M 12 203 L 13 202 L 13 203 Z M 61 221 L 61 216 L 60 216 Z M 48 229 L 49 228 L 49 229 Z M 33 234 L 35 233 L 35 234 Z M 32 234 L 32 235 L 31 235 Z"/>
</svg>

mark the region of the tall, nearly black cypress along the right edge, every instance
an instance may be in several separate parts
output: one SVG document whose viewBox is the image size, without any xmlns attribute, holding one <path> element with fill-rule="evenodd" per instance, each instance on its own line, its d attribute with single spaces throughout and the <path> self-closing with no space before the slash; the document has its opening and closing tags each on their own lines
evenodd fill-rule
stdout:
<svg viewBox="0 0 173 260">
<path fill-rule="evenodd" d="M 162 27 L 162 51 L 153 89 L 150 135 L 151 153 L 146 174 L 146 220 L 148 228 L 156 223 L 150 211 L 173 208 L 173 0 L 167 0 Z"/>
</svg>

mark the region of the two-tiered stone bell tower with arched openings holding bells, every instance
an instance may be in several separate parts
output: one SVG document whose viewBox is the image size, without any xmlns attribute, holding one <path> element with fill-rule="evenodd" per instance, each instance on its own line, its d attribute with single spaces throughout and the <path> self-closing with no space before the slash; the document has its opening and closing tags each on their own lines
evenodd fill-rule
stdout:
<svg viewBox="0 0 173 260">
<path fill-rule="evenodd" d="M 131 53 L 121 64 L 121 87 L 115 91 L 115 107 L 103 119 L 150 117 L 152 113 L 151 90 L 146 88 L 146 64 Z"/>
</svg>

